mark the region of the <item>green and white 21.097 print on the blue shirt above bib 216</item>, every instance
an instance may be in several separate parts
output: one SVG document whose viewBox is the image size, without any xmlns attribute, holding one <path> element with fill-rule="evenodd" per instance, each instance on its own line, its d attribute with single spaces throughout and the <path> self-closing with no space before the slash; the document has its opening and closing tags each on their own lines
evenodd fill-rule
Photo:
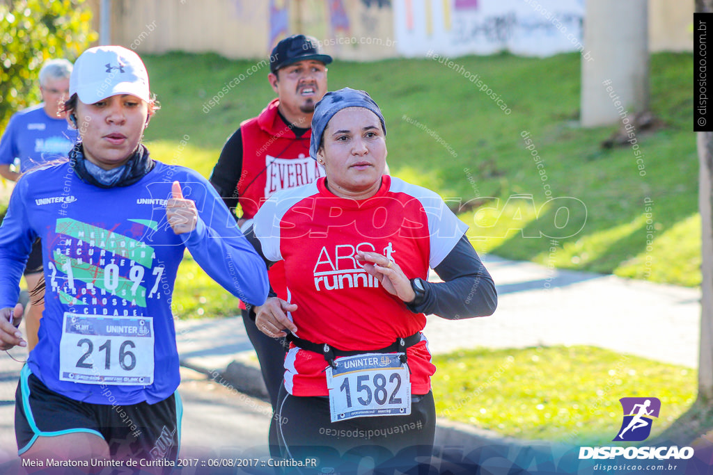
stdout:
<svg viewBox="0 0 713 475">
<path fill-rule="evenodd" d="M 155 221 L 146 219 L 130 221 L 151 228 L 155 225 Z M 145 308 L 146 298 L 160 298 L 164 268 L 151 270 L 155 259 L 152 246 L 71 218 L 58 219 L 55 231 L 63 236 L 52 250 L 48 277 L 49 287 L 58 293 L 61 303 L 106 307 L 109 298 L 113 298 L 113 306 Z M 120 276 L 122 268 L 123 273 L 128 271 L 128 277 Z M 58 272 L 66 277 L 58 277 Z M 64 285 L 60 281 L 65 281 Z M 85 288 L 78 288 L 76 283 L 83 283 Z"/>
</svg>

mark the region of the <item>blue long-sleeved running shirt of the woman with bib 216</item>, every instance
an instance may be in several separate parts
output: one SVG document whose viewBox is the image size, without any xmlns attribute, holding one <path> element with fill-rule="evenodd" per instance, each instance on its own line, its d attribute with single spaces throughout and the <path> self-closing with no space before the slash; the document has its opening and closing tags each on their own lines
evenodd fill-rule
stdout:
<svg viewBox="0 0 713 475">
<path fill-rule="evenodd" d="M 166 221 L 171 184 L 198 209 L 196 229 Z M 150 404 L 180 382 L 171 313 L 185 248 L 221 286 L 261 305 L 269 284 L 215 189 L 200 174 L 156 163 L 128 187 L 87 184 L 68 162 L 19 179 L 0 226 L 0 308 L 17 301 L 35 237 L 42 239 L 45 309 L 31 371 L 51 390 L 94 404 Z"/>
</svg>

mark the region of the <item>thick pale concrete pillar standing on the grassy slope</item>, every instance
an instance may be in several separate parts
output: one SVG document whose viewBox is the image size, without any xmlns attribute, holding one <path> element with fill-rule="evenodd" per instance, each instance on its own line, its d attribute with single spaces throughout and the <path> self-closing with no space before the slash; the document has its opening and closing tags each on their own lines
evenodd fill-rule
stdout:
<svg viewBox="0 0 713 475">
<path fill-rule="evenodd" d="M 647 0 L 586 1 L 584 47 L 593 59 L 582 59 L 583 127 L 616 123 L 621 105 L 628 115 L 647 110 L 647 20 Z M 610 95 L 618 95 L 621 105 L 615 106 Z"/>
</svg>

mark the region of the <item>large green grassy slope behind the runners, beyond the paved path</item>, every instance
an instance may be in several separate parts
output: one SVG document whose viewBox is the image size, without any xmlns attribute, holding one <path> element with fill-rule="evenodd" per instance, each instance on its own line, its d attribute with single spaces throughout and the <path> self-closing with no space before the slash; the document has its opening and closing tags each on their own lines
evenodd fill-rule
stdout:
<svg viewBox="0 0 713 475">
<path fill-rule="evenodd" d="M 255 65 L 252 61 L 185 53 L 144 59 L 162 104 L 145 134 L 152 156 L 197 169 L 206 177 L 227 137 L 274 97 L 267 68 L 246 74 Z M 512 113 L 506 115 L 463 75 L 431 59 L 337 61 L 329 68 L 329 88 L 361 88 L 379 103 L 386 118 L 393 174 L 434 189 L 453 204 L 483 200 L 481 208 L 460 214 L 471 226 L 469 235 L 479 252 L 699 285 L 690 54 L 651 57 L 650 106 L 663 126 L 637 134 L 643 177 L 630 147 L 605 150 L 600 146 L 617 127 L 578 127 L 579 55 L 536 59 L 503 54 L 468 56 L 456 62 L 480 75 Z M 240 74 L 245 80 L 204 113 L 207 100 Z M 531 151 L 525 149 L 525 131 L 544 162 L 544 182 Z M 188 142 L 183 150 L 180 140 Z M 561 198 L 545 203 L 544 184 L 552 197 Z M 531 199 L 514 198 L 523 194 Z M 653 202 L 648 224 L 646 198 Z M 563 203 L 570 207 L 569 221 L 566 213 L 558 212 Z M 558 239 L 556 251 L 550 253 L 550 239 L 540 233 L 574 235 Z M 648 249 L 647 239 L 652 241 Z M 187 282 L 190 275 L 200 285 Z M 235 313 L 235 306 L 225 305 L 222 290 L 193 261 L 180 269 L 178 288 L 191 292 L 201 288 L 207 298 L 204 306 L 183 306 L 179 315 L 198 315 L 198 308 L 203 309 L 202 315 Z"/>
</svg>

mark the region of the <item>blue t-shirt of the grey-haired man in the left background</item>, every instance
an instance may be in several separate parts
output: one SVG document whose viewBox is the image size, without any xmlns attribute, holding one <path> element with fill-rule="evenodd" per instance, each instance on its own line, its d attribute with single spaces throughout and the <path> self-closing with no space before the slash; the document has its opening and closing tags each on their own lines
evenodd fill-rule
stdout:
<svg viewBox="0 0 713 475">
<path fill-rule="evenodd" d="M 20 160 L 20 170 L 66 157 L 77 139 L 77 130 L 66 120 L 51 118 L 44 103 L 21 110 L 10 119 L 0 140 L 0 164 Z"/>
</svg>

